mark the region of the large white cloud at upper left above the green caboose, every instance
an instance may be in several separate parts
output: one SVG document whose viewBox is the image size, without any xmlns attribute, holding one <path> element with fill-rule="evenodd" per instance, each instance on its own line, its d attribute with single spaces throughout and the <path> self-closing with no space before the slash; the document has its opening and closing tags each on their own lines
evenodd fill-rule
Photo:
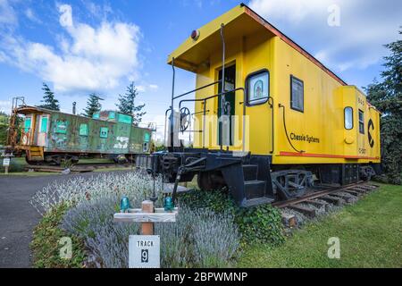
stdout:
<svg viewBox="0 0 402 286">
<path fill-rule="evenodd" d="M 2 0 L 0 0 L 2 1 Z M 98 27 L 74 22 L 70 5 L 59 6 L 65 33 L 60 46 L 29 42 L 15 35 L 0 39 L 0 51 L 23 71 L 37 74 L 58 91 L 115 88 L 125 78 L 136 78 L 139 67 L 138 26 L 102 21 Z"/>
</svg>

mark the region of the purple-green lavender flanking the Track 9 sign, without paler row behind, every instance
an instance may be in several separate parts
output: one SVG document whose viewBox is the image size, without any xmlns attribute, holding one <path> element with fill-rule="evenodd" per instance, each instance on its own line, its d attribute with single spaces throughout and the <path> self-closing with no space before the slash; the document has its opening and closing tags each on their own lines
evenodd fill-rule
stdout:
<svg viewBox="0 0 402 286">
<path fill-rule="evenodd" d="M 127 267 L 129 236 L 139 233 L 139 223 L 113 223 L 118 210 L 114 198 L 83 202 L 63 219 L 63 230 L 85 240 L 99 261 L 98 267 Z M 223 267 L 239 248 L 239 235 L 228 214 L 180 208 L 176 223 L 155 223 L 161 236 L 163 267 Z"/>
</svg>

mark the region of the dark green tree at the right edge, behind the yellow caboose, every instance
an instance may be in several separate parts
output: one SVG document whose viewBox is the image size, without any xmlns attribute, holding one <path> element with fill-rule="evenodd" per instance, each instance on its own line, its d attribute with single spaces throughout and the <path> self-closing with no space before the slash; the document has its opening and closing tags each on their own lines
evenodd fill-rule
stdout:
<svg viewBox="0 0 402 286">
<path fill-rule="evenodd" d="M 399 35 L 402 30 L 399 31 Z M 389 182 L 402 182 L 402 40 L 385 45 L 381 81 L 364 88 L 367 99 L 382 113 L 381 161 Z"/>
</svg>

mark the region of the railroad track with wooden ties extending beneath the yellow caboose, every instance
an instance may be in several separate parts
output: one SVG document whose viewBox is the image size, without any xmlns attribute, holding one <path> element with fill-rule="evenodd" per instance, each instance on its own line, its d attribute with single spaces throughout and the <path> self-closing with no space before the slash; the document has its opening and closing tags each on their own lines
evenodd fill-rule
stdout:
<svg viewBox="0 0 402 286">
<path fill-rule="evenodd" d="M 331 206 L 343 206 L 356 201 L 367 192 L 377 189 L 379 186 L 362 181 L 342 187 L 318 186 L 302 198 L 295 198 L 284 202 L 272 203 L 272 206 L 281 208 L 282 223 L 288 227 L 294 227 L 297 222 L 297 213 L 308 218 L 314 218 L 318 212 L 328 212 Z M 287 214 L 285 209 L 291 210 Z"/>
</svg>

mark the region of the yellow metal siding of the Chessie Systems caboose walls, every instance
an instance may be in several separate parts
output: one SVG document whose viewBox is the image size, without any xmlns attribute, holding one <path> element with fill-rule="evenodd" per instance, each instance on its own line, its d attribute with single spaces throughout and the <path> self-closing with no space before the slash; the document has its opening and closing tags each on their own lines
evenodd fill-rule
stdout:
<svg viewBox="0 0 402 286">
<path fill-rule="evenodd" d="M 233 14 L 225 14 L 224 21 L 232 21 L 230 17 L 240 17 L 239 10 Z M 240 13 L 241 14 L 241 13 Z M 244 14 L 241 14 L 243 17 Z M 222 20 L 222 19 L 221 19 Z M 213 35 L 219 21 L 213 21 L 201 29 L 201 35 Z M 233 21 L 234 22 L 234 21 Z M 249 23 L 251 25 L 251 23 Z M 246 25 L 246 23 L 245 23 Z M 243 28 L 245 31 L 252 30 Z M 255 155 L 271 155 L 272 128 L 274 133 L 272 154 L 273 164 L 347 164 L 347 163 L 379 163 L 380 162 L 380 114 L 367 103 L 364 94 L 354 86 L 345 86 L 333 73 L 322 68 L 311 57 L 303 55 L 300 50 L 289 45 L 289 42 L 274 36 L 268 29 L 254 29 L 254 32 L 243 32 L 237 37 L 232 34 L 226 42 L 226 66 L 236 64 L 236 88 L 245 88 L 247 75 L 260 70 L 270 72 L 270 96 L 273 98 L 272 109 L 268 103 L 247 106 L 246 151 Z M 213 46 L 217 38 L 212 38 Z M 186 42 L 187 43 L 187 42 Z M 205 45 L 204 42 L 202 45 Z M 191 48 L 197 43 L 188 42 L 176 51 L 179 56 L 187 53 L 187 58 L 198 56 L 191 54 Z M 191 47 L 191 48 L 190 48 Z M 186 52 L 185 52 L 186 50 Z M 209 52 L 209 57 L 197 66 L 197 88 L 218 80 L 218 72 L 222 68 L 222 50 Z M 304 112 L 290 108 L 290 76 L 293 75 L 304 83 Z M 219 93 L 218 86 L 197 91 L 196 98 L 201 99 Z M 236 94 L 235 146 L 230 150 L 242 150 L 243 94 Z M 299 153 L 289 144 L 284 124 L 283 108 L 286 115 L 286 126 L 290 141 Z M 196 130 L 204 130 L 195 134 L 194 147 L 218 149 L 217 145 L 217 106 L 218 98 L 207 101 L 205 126 L 203 126 L 203 104 L 196 103 Z M 344 108 L 353 107 L 354 127 L 344 127 Z M 358 110 L 364 111 L 364 134 L 359 133 Z M 368 122 L 373 121 L 371 130 L 374 145 L 368 142 Z M 273 127 L 272 127 L 273 126 Z M 295 139 L 298 137 L 299 139 Z M 226 147 L 224 147 L 226 148 Z"/>
</svg>

